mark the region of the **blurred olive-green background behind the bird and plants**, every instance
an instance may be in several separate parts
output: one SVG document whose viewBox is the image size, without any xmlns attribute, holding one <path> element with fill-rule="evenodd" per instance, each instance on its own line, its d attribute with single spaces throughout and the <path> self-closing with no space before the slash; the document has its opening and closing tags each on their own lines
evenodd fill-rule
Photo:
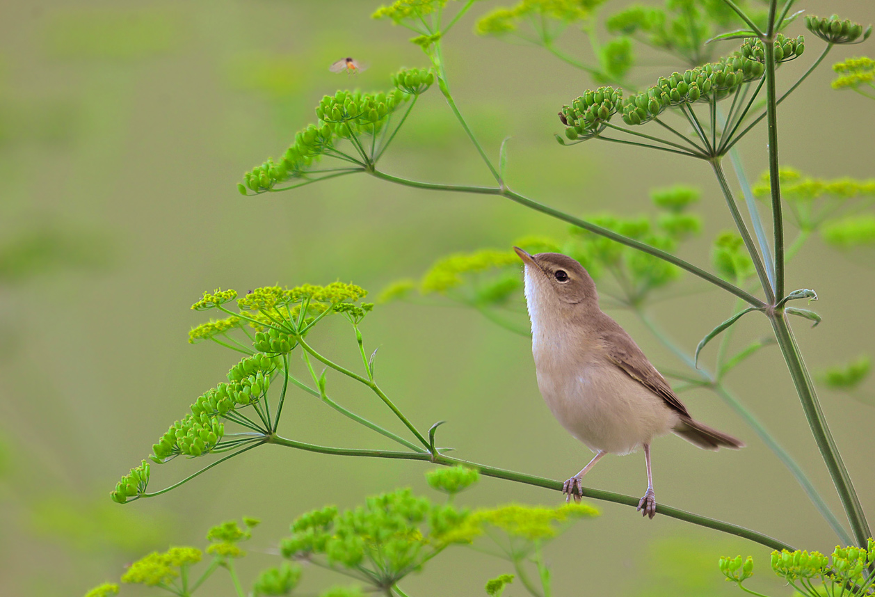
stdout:
<svg viewBox="0 0 875 597">
<path fill-rule="evenodd" d="M 476 38 L 474 18 L 496 5 L 478 4 L 444 46 L 457 101 L 488 151 L 497 155 L 510 136 L 511 185 L 573 214 L 648 213 L 649 188 L 701 186 L 706 231 L 683 256 L 705 263 L 711 238 L 731 226 L 706 165 L 611 144 L 556 144 L 556 110 L 591 82 L 541 50 Z M 269 552 L 304 510 L 352 506 L 400 486 L 429 491 L 419 463 L 266 446 L 160 498 L 109 501 L 118 477 L 237 360 L 215 345 L 187 343 L 188 329 L 205 320 L 188 308 L 202 291 L 340 279 L 375 292 L 452 251 L 564 234 L 562 224 L 507 200 L 419 192 L 364 176 L 257 198 L 237 193 L 242 172 L 280 155 L 314 119 L 322 95 L 347 86 L 388 88 L 398 67 L 426 66 L 407 42 L 409 32 L 369 18 L 374 8 L 360 0 L 4 4 L 0 244 L 18 257 L 4 263 L 0 277 L 0 595 L 81 594 L 117 579 L 148 551 L 202 546 L 209 526 L 242 515 L 263 520 L 242 564 L 248 585 L 255 571 L 276 564 Z M 871 5 L 851 0 L 799 8 L 875 20 Z M 586 55 L 583 40 L 570 38 L 569 49 Z M 814 46 L 819 52 L 812 39 Z M 872 177 L 875 108 L 829 86 L 829 64 L 872 54 L 872 46 L 839 46 L 782 105 L 785 164 L 825 178 Z M 367 71 L 355 78 L 328 72 L 347 55 L 368 63 Z M 780 82 L 795 81 L 805 59 L 781 68 Z M 646 60 L 649 67 L 634 75 L 642 83 L 679 68 Z M 749 176 L 758 177 L 766 168 L 764 128 L 740 148 Z M 489 182 L 437 90 L 423 95 L 383 169 Z M 682 284 L 704 290 L 690 279 Z M 795 324 L 812 369 L 871 347 L 871 253 L 841 255 L 809 242 L 789 269 L 788 287 L 815 288 L 821 298 L 823 325 Z M 654 313 L 691 349 L 731 309 L 732 299 L 708 291 L 662 301 Z M 652 361 L 676 365 L 630 314 L 613 314 Z M 768 333 L 758 318 L 740 326 L 739 347 Z M 340 360 L 353 358 L 351 338 L 332 338 L 332 329 L 348 334 L 329 325 L 318 345 Z M 526 339 L 472 311 L 406 304 L 379 307 L 363 332 L 369 346 L 380 347 L 382 387 L 420 428 L 446 419 L 441 443 L 458 456 L 555 479 L 589 460 L 542 403 Z M 777 350 L 746 362 L 731 385 L 839 512 Z M 388 423 L 373 397 L 339 387 L 349 390 L 344 404 Z M 875 389 L 865 391 L 872 396 Z M 822 399 L 864 507 L 875 516 L 875 412 L 826 391 Z M 684 400 L 697 418 L 748 447 L 708 453 L 674 438 L 656 442 L 659 500 L 831 551 L 829 527 L 753 432 L 710 392 Z M 297 395 L 294 406 L 285 412 L 287 436 L 385 445 L 311 397 Z M 153 467 L 151 488 L 179 480 L 192 465 Z M 641 495 L 643 458 L 612 456 L 587 481 Z M 486 479 L 462 499 L 556 504 L 560 497 Z M 724 553 L 753 554 L 759 586 L 788 593 L 770 578 L 767 550 L 758 545 L 598 506 L 602 516 L 577 523 L 549 548 L 556 594 L 734 593 L 717 569 Z M 501 572 L 508 571 L 499 560 L 452 549 L 404 586 L 416 595 L 482 594 L 486 579 Z M 341 581 L 328 577 L 308 569 L 304 586 L 315 591 Z M 227 595 L 231 586 L 217 583 L 211 591 Z M 123 594 L 141 593 L 125 587 Z M 506 594 L 521 593 L 512 586 Z"/>
</svg>

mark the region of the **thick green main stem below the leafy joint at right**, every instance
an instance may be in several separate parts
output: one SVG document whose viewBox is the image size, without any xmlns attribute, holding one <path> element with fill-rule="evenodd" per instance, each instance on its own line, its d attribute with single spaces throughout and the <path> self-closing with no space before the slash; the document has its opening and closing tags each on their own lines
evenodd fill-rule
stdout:
<svg viewBox="0 0 875 597">
<path fill-rule="evenodd" d="M 782 311 L 774 311 L 769 315 L 769 319 L 772 321 L 775 337 L 781 347 L 781 354 L 784 355 L 784 361 L 787 362 L 790 376 L 802 402 L 802 411 L 805 413 L 811 432 L 815 436 L 823 461 L 830 471 L 830 477 L 836 486 L 848 521 L 851 523 L 851 531 L 858 546 L 865 547 L 868 538 L 872 537 L 872 530 L 869 529 L 863 506 L 860 504 L 857 491 L 851 482 L 851 475 L 848 474 L 848 469 L 844 466 L 842 455 L 838 452 L 836 441 L 833 439 L 830 427 L 823 416 L 814 383 L 811 381 L 805 362 L 802 361 L 802 353 L 796 344 L 787 316 Z"/>
</svg>

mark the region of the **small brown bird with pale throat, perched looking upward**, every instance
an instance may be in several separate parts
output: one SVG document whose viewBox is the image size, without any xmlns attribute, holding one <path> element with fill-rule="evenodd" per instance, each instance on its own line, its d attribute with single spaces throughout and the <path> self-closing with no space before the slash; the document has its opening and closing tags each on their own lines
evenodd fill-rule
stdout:
<svg viewBox="0 0 875 597">
<path fill-rule="evenodd" d="M 650 442 L 675 433 L 706 450 L 744 447 L 738 439 L 690 417 L 683 403 L 620 324 L 598 308 L 596 284 L 584 267 L 559 253 L 529 255 L 525 263 L 528 318 L 538 388 L 553 416 L 596 453 L 563 485 L 579 501 L 584 474 L 607 453 L 644 448 L 648 490 L 642 515 L 656 514 Z"/>
</svg>

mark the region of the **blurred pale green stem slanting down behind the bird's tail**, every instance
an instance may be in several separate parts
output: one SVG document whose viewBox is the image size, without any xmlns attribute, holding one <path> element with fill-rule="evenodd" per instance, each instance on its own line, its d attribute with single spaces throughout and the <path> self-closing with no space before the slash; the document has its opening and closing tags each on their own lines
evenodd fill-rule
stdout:
<svg viewBox="0 0 875 597">
<path fill-rule="evenodd" d="M 823 519 L 830 525 L 833 532 L 836 533 L 839 541 L 841 541 L 842 544 L 850 545 L 851 537 L 848 535 L 848 531 L 844 529 L 844 526 L 838 520 L 837 516 L 833 514 L 830 506 L 823 500 L 823 496 L 817 491 L 814 483 L 811 482 L 808 475 L 805 474 L 805 471 L 802 470 L 802 467 L 799 466 L 787 450 L 778 443 L 778 440 L 774 438 L 774 435 L 767 430 L 766 426 L 762 424 L 760 419 L 757 418 L 753 412 L 749 411 L 745 404 L 741 403 L 739 398 L 735 397 L 731 391 L 727 390 L 725 385 L 711 374 L 711 372 L 701 366 L 700 369 L 696 369 L 693 357 L 688 355 L 683 348 L 680 348 L 674 341 L 672 341 L 669 336 L 660 329 L 660 327 L 657 327 L 647 313 L 644 313 L 641 309 L 636 309 L 635 313 L 637 313 L 641 323 L 648 328 L 650 333 L 653 334 L 657 340 L 662 342 L 662 344 L 666 348 L 669 348 L 677 358 L 683 361 L 683 363 L 692 371 L 697 373 L 702 381 L 707 384 L 707 387 L 713 390 L 714 393 L 725 402 L 725 404 L 729 405 L 729 407 L 732 408 L 732 410 L 735 411 L 735 413 L 739 415 L 739 417 L 742 418 L 751 429 L 753 429 L 753 432 L 757 434 L 757 437 L 766 444 L 768 449 L 774 453 L 778 460 L 781 460 L 781 464 L 788 469 L 796 482 L 802 486 L 802 491 L 805 492 L 805 495 L 808 495 L 809 500 L 814 504 L 817 511 L 820 512 Z"/>
</svg>

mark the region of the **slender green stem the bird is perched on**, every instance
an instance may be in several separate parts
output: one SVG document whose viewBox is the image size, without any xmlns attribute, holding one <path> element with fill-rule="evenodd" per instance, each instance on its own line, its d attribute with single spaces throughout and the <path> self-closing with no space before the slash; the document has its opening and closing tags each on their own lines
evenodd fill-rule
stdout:
<svg viewBox="0 0 875 597">
<path fill-rule="evenodd" d="M 359 456 L 369 458 L 420 460 L 425 462 L 433 462 L 444 467 L 453 467 L 461 464 L 465 467 L 476 468 L 480 474 L 485 474 L 487 477 L 494 477 L 496 479 L 504 479 L 506 481 L 525 483 L 527 485 L 551 489 L 553 491 L 561 491 L 563 486 L 562 481 L 554 481 L 552 479 L 547 479 L 545 477 L 539 477 L 532 474 L 517 473 L 516 471 L 508 471 L 503 468 L 490 467 L 488 465 L 471 462 L 469 460 L 452 458 L 451 456 L 447 456 L 442 453 L 423 454 L 412 452 L 393 452 L 387 450 L 365 450 L 360 448 L 317 446 L 315 444 L 308 444 L 305 442 L 296 441 L 294 439 L 281 438 L 276 434 L 270 435 L 265 440 L 265 442 L 269 444 L 276 444 L 277 446 L 297 448 L 299 450 L 306 450 L 308 452 L 332 454 L 335 456 Z M 601 489 L 592 488 L 584 488 L 583 497 L 593 500 L 601 500 L 604 502 L 619 503 L 626 506 L 631 506 L 633 508 L 637 508 L 639 502 L 639 498 L 633 497 L 631 495 L 615 494 L 611 491 L 603 491 Z M 671 506 L 665 506 L 663 504 L 660 504 L 659 513 L 665 516 L 669 516 L 670 518 L 676 518 L 677 520 L 683 520 L 688 523 L 697 524 L 708 529 L 719 530 L 730 535 L 735 535 L 736 537 L 746 538 L 750 541 L 753 541 L 754 543 L 765 545 L 772 549 L 786 549 L 789 551 L 794 551 L 795 549 L 792 546 L 785 544 L 778 539 L 775 539 L 774 537 L 769 537 L 755 530 L 746 529 L 732 523 L 725 523 L 723 521 L 709 518 L 707 516 L 699 516 L 697 514 L 687 512 L 686 510 L 672 508 Z"/>
</svg>

